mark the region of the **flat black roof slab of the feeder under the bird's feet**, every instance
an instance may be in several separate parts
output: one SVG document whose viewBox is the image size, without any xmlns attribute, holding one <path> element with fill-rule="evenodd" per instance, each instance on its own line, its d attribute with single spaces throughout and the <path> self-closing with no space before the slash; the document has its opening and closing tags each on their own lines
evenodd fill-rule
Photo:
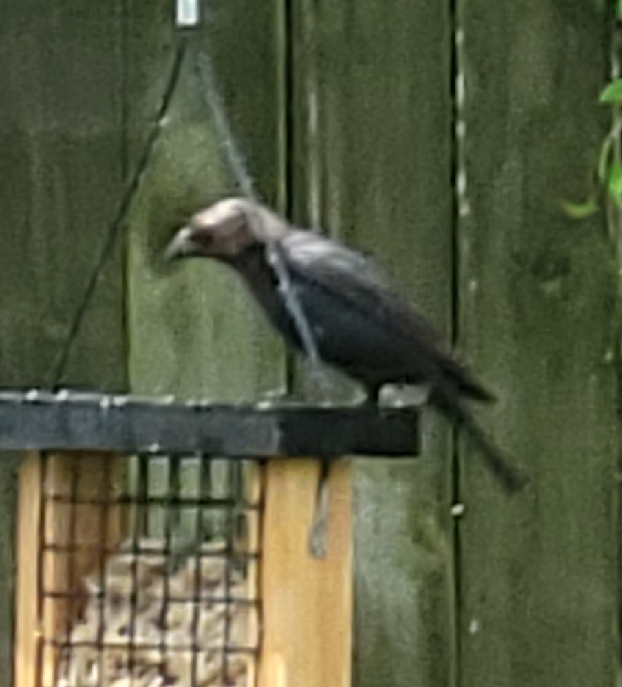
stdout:
<svg viewBox="0 0 622 687">
<path fill-rule="evenodd" d="M 125 395 L 0 391 L 0 450 L 106 450 L 223 457 L 419 452 L 413 407 L 254 406 Z"/>
</svg>

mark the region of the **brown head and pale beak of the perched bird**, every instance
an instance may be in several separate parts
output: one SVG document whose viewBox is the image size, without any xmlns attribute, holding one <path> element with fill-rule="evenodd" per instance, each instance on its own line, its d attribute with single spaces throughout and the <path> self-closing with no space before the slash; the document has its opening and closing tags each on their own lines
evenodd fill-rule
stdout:
<svg viewBox="0 0 622 687">
<path fill-rule="evenodd" d="M 196 212 L 173 237 L 165 258 L 211 257 L 225 262 L 247 248 L 281 238 L 288 225 L 268 208 L 245 198 L 227 198 Z"/>
</svg>

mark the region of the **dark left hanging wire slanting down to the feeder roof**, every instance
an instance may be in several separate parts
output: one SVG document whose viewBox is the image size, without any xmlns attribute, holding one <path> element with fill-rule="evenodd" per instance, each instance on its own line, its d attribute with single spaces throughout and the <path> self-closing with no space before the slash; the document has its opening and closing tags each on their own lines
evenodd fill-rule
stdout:
<svg viewBox="0 0 622 687">
<path fill-rule="evenodd" d="M 69 361 L 69 353 L 71 353 L 74 342 L 80 332 L 84 316 L 87 312 L 89 304 L 92 301 L 93 294 L 103 271 L 104 265 L 107 259 L 110 257 L 110 254 L 115 246 L 116 239 L 119 237 L 122 231 L 125 230 L 125 220 L 127 219 L 127 212 L 131 206 L 131 201 L 133 200 L 133 197 L 140 186 L 142 175 L 144 174 L 144 171 L 147 169 L 149 161 L 151 160 L 153 148 L 158 140 L 160 132 L 162 131 L 162 124 L 167 117 L 169 108 L 171 106 L 171 101 L 173 100 L 173 95 L 175 94 L 175 89 L 178 85 L 182 64 L 184 63 L 184 57 L 186 55 L 186 43 L 186 39 L 184 37 L 180 37 L 177 46 L 175 47 L 175 56 L 173 57 L 173 64 L 171 65 L 169 79 L 167 80 L 167 85 L 162 93 L 160 105 L 158 105 L 156 117 L 151 124 L 151 129 L 147 135 L 147 140 L 144 143 L 142 154 L 140 155 L 138 164 L 136 165 L 136 171 L 132 175 L 131 179 L 129 180 L 129 184 L 127 184 L 121 196 L 114 218 L 110 223 L 110 228 L 105 241 L 91 270 L 89 279 L 87 281 L 87 286 L 81 296 L 80 303 L 78 303 L 78 307 L 76 308 L 76 312 L 71 320 L 71 324 L 69 325 L 67 337 L 63 342 L 61 351 L 58 353 L 58 358 L 56 359 L 56 363 L 52 369 L 52 384 L 54 384 L 54 386 L 60 384 L 61 380 L 63 379 L 65 369 L 67 368 L 67 362 Z"/>
</svg>

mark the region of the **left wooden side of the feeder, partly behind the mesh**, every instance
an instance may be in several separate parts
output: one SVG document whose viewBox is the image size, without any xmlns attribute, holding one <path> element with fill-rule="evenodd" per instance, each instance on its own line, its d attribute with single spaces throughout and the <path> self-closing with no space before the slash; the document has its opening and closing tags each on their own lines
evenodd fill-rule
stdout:
<svg viewBox="0 0 622 687">
<path fill-rule="evenodd" d="M 21 465 L 15 687 L 54 685 L 54 640 L 76 619 L 79 584 L 120 542 L 114 469 L 104 452 L 32 452 Z"/>
</svg>

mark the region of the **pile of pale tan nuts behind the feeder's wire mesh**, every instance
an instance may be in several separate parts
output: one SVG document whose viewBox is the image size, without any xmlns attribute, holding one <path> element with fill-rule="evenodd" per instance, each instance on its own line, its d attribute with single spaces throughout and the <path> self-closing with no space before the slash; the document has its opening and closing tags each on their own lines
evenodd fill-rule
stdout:
<svg viewBox="0 0 622 687">
<path fill-rule="evenodd" d="M 164 541 L 138 543 L 139 551 L 164 547 Z M 131 549 L 128 541 L 107 560 L 105 589 L 98 576 L 85 580 L 84 618 L 69 631 L 56 686 L 120 687 L 133 677 L 136 687 L 211 687 L 226 677 L 247 687 L 248 657 L 232 654 L 224 666 L 226 644 L 257 646 L 257 637 L 250 636 L 255 609 L 246 582 L 234 574 L 227 589 L 226 542 L 203 545 L 206 556 L 187 558 L 168 579 L 164 555 L 144 558 Z"/>
</svg>

